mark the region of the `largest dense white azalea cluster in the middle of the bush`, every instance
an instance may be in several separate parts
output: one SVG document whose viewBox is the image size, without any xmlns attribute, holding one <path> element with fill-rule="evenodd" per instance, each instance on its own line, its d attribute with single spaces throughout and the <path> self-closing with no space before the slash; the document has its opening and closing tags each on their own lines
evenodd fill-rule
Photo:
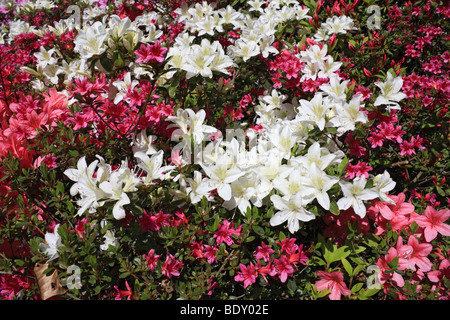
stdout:
<svg viewBox="0 0 450 320">
<path fill-rule="evenodd" d="M 273 97 L 279 98 L 273 92 L 261 100 L 271 103 L 275 100 L 280 105 L 282 100 Z M 345 110 L 357 106 L 359 112 L 359 101 L 357 96 L 350 103 L 342 103 L 341 107 Z M 233 137 L 212 141 L 204 149 L 198 149 L 196 152 L 199 154 L 195 154 L 195 158 L 200 159 L 204 175 L 201 171 L 195 171 L 193 178 L 178 176 L 180 190 L 173 194 L 197 203 L 203 196 L 213 201 L 210 192 L 217 190 L 226 209 L 237 208 L 242 214 L 252 205 L 261 207 L 272 202 L 279 211 L 271 219 L 271 224 L 287 221 L 291 232 L 299 229 L 299 221 L 315 218 L 306 209 L 312 201 L 317 200 L 323 209 L 330 210 L 332 200 L 328 191 L 335 185 L 340 186 L 344 195 L 337 201 L 339 208 L 345 210 L 351 206 L 361 217 L 366 213 L 363 200 L 387 199 L 386 192 L 395 186 L 387 172 L 374 177 L 375 183 L 369 189 L 365 188 L 365 177 L 347 182 L 327 173 L 330 167 L 339 166 L 345 157 L 328 139 L 314 141 L 304 155 L 295 155 L 292 152 L 294 148 L 302 150 L 310 141 L 308 129 L 318 125 L 315 121 L 303 119 L 301 106 L 297 109 L 298 113 L 293 118 L 286 116 L 278 118 L 274 124 L 264 123 L 262 134 L 247 131 L 247 136 L 251 138 L 250 148 L 246 148 L 245 139 Z M 201 115 L 194 116 L 192 110 L 185 112 L 193 118 L 201 118 Z M 348 120 L 343 111 L 340 113 L 343 119 Z M 187 123 L 182 113 L 170 120 L 179 123 L 179 128 Z M 203 132 L 202 128 L 211 132 L 210 127 L 201 122 L 197 122 L 195 128 L 199 135 Z M 206 136 L 206 131 L 203 136 Z"/>
</svg>

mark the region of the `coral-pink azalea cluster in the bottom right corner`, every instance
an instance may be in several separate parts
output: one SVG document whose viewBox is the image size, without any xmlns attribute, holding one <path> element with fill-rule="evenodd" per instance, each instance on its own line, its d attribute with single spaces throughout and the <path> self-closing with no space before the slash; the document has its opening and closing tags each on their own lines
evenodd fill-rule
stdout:
<svg viewBox="0 0 450 320">
<path fill-rule="evenodd" d="M 429 273 L 431 281 L 436 282 L 438 289 L 443 289 L 443 284 L 438 283 L 438 276 L 446 271 L 446 265 L 449 260 L 441 255 L 439 270 L 432 271 L 433 263 L 430 261 L 430 253 L 433 250 L 431 242 L 436 239 L 438 234 L 450 236 L 450 225 L 445 223 L 450 218 L 449 209 L 437 211 L 432 206 L 427 206 L 423 215 L 414 212 L 414 206 L 405 202 L 405 195 L 400 193 L 398 196 L 389 196 L 394 204 L 381 201 L 373 201 L 373 205 L 368 208 L 368 216 L 373 219 L 378 227 L 375 234 L 392 230 L 399 234 L 395 247 L 391 247 L 388 253 L 376 261 L 380 268 L 379 281 L 388 290 L 392 284 L 403 287 L 405 280 L 402 276 L 405 270 L 415 272 L 413 281 L 418 281 Z M 417 230 L 410 234 L 405 243 L 400 235 L 402 231 L 411 233 L 409 230 L 413 223 L 417 224 Z M 395 262 L 395 263 L 394 263 Z M 401 272 L 397 272 L 397 270 Z M 414 280 L 416 279 L 416 280 Z"/>
</svg>

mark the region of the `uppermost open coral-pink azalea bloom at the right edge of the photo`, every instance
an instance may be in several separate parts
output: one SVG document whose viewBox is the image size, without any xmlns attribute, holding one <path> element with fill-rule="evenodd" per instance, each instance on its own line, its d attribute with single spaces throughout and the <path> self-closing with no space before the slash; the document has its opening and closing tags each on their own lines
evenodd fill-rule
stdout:
<svg viewBox="0 0 450 320">
<path fill-rule="evenodd" d="M 430 242 L 440 233 L 443 236 L 450 236 L 450 225 L 445 221 L 450 218 L 450 210 L 442 209 L 436 211 L 432 206 L 427 206 L 425 214 L 415 219 L 419 227 L 424 228 L 424 236 L 427 242 Z"/>
</svg>

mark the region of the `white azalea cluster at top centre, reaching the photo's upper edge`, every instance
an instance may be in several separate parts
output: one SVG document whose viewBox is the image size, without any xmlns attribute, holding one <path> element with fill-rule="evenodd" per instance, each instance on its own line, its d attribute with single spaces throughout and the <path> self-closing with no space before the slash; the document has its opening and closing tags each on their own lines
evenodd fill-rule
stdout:
<svg viewBox="0 0 450 320">
<path fill-rule="evenodd" d="M 244 15 L 230 5 L 215 10 L 207 2 L 189 7 L 184 3 L 175 12 L 179 15 L 178 21 L 185 23 L 186 31 L 177 37 L 175 45 L 170 48 L 168 66 L 185 70 L 188 79 L 198 74 L 211 78 L 213 71 L 228 74 L 227 68 L 234 66 L 238 59 L 245 62 L 258 54 L 267 57 L 278 53 L 272 44 L 279 23 L 308 18 L 306 13 L 309 9 L 302 9 L 297 1 L 272 1 L 264 9 L 262 2 L 251 1 L 249 4 L 252 5 L 250 11 L 261 13 L 258 18 Z M 242 30 L 226 53 L 218 41 L 210 43 L 202 39 L 201 44 L 193 43 L 196 37 L 192 34 L 196 33 L 197 37 L 215 35 L 225 32 L 226 26 L 235 31 Z M 169 73 L 168 77 L 171 75 L 173 73 Z"/>
</svg>

